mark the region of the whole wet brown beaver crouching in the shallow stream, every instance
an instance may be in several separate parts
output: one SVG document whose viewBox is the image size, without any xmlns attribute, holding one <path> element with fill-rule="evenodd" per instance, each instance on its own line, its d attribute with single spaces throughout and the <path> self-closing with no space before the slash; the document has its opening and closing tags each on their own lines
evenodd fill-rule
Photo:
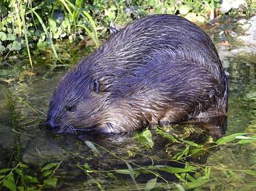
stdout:
<svg viewBox="0 0 256 191">
<path fill-rule="evenodd" d="M 227 114 L 227 77 L 210 37 L 180 16 L 146 16 L 59 82 L 46 127 L 122 133 Z"/>
</svg>

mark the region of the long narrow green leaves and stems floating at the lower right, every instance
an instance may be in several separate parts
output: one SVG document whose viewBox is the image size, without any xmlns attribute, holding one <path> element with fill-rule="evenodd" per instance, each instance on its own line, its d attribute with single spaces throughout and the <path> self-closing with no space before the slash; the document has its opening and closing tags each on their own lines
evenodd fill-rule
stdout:
<svg viewBox="0 0 256 191">
<path fill-rule="evenodd" d="M 216 167 L 210 167 L 210 166 L 203 166 L 198 164 L 193 164 L 193 162 L 186 162 L 186 157 L 193 156 L 197 154 L 198 152 L 210 152 L 214 147 L 222 147 L 225 145 L 247 145 L 250 143 L 256 142 L 256 135 L 249 135 L 248 133 L 236 133 L 233 135 L 227 135 L 226 137 L 223 137 L 221 139 L 218 139 L 218 141 L 215 142 L 214 145 L 211 144 L 210 147 L 206 147 L 205 145 L 199 145 L 197 143 L 194 143 L 193 141 L 187 141 L 187 140 L 178 140 L 175 139 L 173 136 L 169 136 L 169 134 L 164 133 L 160 129 L 156 129 L 158 132 L 158 135 L 162 135 L 165 139 L 169 139 L 170 141 L 174 141 L 174 143 L 184 143 L 184 150 L 182 152 L 178 152 L 175 156 L 172 156 L 172 158 L 175 161 L 178 161 L 180 164 L 184 164 L 184 167 L 171 167 L 169 165 L 152 165 L 148 167 L 141 167 L 137 164 L 134 164 L 133 162 L 128 162 L 124 158 L 120 158 L 119 156 L 116 156 L 115 154 L 112 154 L 110 151 L 107 151 L 103 147 L 94 144 L 96 147 L 100 147 L 101 149 L 105 150 L 115 158 L 119 160 L 123 160 L 124 163 L 127 165 L 128 169 L 115 169 L 112 171 L 102 171 L 102 173 L 106 173 L 106 175 L 110 178 L 117 179 L 116 173 L 121 173 L 123 175 L 129 175 L 132 178 L 132 181 L 134 182 L 134 185 L 137 188 L 136 179 L 141 174 L 148 174 L 152 173 L 156 175 L 154 179 L 150 179 L 147 181 L 147 184 L 145 185 L 145 190 L 152 190 L 156 187 L 158 184 L 158 179 L 162 179 L 165 181 L 163 177 L 161 177 L 160 173 L 156 173 L 156 171 L 165 171 L 165 173 L 169 173 L 170 175 L 173 174 L 177 179 L 180 180 L 180 184 L 174 184 L 174 186 L 177 188 L 177 190 L 190 190 L 190 189 L 199 189 L 206 184 L 211 184 L 212 176 L 214 173 L 212 173 L 212 169 Z M 144 131 L 147 132 L 147 131 Z M 143 137 L 144 132 L 142 132 L 142 135 L 135 135 L 141 143 L 141 137 Z M 147 134 L 147 133 L 146 133 Z M 150 148 L 150 147 L 148 147 Z M 137 167 L 137 168 L 134 168 Z M 218 167 L 217 167 L 218 168 Z M 85 173 L 88 174 L 94 174 L 94 173 L 100 173 L 100 171 L 94 171 L 91 169 L 91 167 L 88 166 L 88 164 L 85 165 L 84 169 Z M 230 175 L 233 177 L 238 178 L 238 173 L 243 173 L 244 175 L 253 175 L 256 176 L 256 171 L 254 169 L 248 169 L 248 170 L 241 170 L 241 171 L 233 171 L 231 169 L 219 169 L 220 172 L 225 173 L 226 171 L 229 172 L 229 178 Z M 95 180 L 96 181 L 96 180 Z M 99 184 L 99 183 L 98 183 Z M 169 185 L 168 181 L 166 181 L 166 184 Z M 168 186 L 161 187 L 165 189 L 170 189 Z"/>
</svg>

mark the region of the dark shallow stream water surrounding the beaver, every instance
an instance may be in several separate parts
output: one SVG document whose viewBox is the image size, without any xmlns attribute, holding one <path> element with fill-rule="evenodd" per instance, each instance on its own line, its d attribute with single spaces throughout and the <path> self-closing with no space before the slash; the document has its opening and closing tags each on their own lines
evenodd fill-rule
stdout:
<svg viewBox="0 0 256 191">
<path fill-rule="evenodd" d="M 215 39 L 214 43 L 229 75 L 226 135 L 242 132 L 256 134 L 255 61 L 253 58 L 250 60 L 250 56 L 246 59 L 234 57 L 233 54 L 229 56 L 228 52 L 232 48 L 227 49 L 218 43 L 218 30 L 220 29 L 208 29 L 208 33 Z M 85 50 L 76 50 L 70 54 L 70 62 L 76 63 L 87 54 Z M 24 67 L 28 63 L 24 59 L 20 61 L 12 58 L 6 60 L 8 64 L 1 66 L 0 169 L 23 162 L 29 165 L 27 174 L 42 181 L 44 177 L 40 169 L 50 162 L 59 162 L 59 169 L 54 174 L 58 180 L 57 187 L 51 190 L 99 190 L 99 184 L 104 190 L 138 190 L 145 188 L 147 181 L 156 175 L 147 171 L 148 169 L 141 175 L 134 173 L 137 175 L 135 186 L 131 171 L 128 170 L 129 164 L 135 170 L 152 165 L 184 167 L 184 163 L 171 160 L 171 156 L 184 150 L 184 143 L 177 143 L 167 138 L 167 135 L 200 145 L 211 145 L 212 137 L 209 133 L 195 128 L 195 124 L 175 124 L 160 130 L 113 137 L 76 137 L 49 133 L 40 128 L 40 122 L 46 118 L 44 114 L 48 109 L 48 100 L 67 68 L 53 69 L 52 61 L 47 55 L 36 56 L 33 60 L 36 63 L 32 73 L 29 66 Z M 14 82 L 6 85 L 3 80 Z M 223 128 L 226 128 L 225 125 Z M 167 135 L 162 135 L 162 132 Z M 210 134 L 216 137 L 219 135 L 216 131 Z M 195 154 L 184 161 L 212 167 L 212 177 L 201 186 L 201 190 L 251 190 L 255 188 L 255 176 L 240 173 L 233 175 L 229 169 L 233 171 L 255 168 L 256 147 L 252 144 L 222 145 L 218 149 Z M 115 171 L 118 169 L 123 171 Z M 160 173 L 167 181 L 178 181 L 174 174 L 156 169 L 154 172 Z M 159 178 L 158 181 L 158 186 L 165 182 Z"/>
</svg>

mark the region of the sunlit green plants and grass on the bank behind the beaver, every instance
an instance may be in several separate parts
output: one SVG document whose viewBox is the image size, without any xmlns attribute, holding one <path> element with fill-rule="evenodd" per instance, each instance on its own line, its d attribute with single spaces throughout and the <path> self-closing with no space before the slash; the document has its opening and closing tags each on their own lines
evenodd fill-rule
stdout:
<svg viewBox="0 0 256 191">
<path fill-rule="evenodd" d="M 255 3 L 244 10 L 253 14 Z M 147 0 L 147 1 L 83 1 L 83 0 L 3 0 L 0 1 L 0 54 L 27 50 L 31 54 L 51 52 L 59 62 L 55 46 L 62 39 L 75 44 L 99 46 L 99 38 L 124 27 L 128 22 L 148 14 L 180 14 L 194 22 L 205 22 L 220 15 L 221 0 Z M 89 41 L 91 39 L 91 41 Z"/>
</svg>

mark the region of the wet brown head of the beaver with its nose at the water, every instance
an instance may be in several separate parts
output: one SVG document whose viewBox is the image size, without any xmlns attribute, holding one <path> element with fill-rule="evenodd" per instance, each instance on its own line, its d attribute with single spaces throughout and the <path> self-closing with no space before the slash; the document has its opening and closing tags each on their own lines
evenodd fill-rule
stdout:
<svg viewBox="0 0 256 191">
<path fill-rule="evenodd" d="M 76 133 L 100 124 L 108 93 L 90 73 L 89 69 L 76 67 L 63 77 L 49 104 L 45 122 L 48 130 Z"/>
</svg>

